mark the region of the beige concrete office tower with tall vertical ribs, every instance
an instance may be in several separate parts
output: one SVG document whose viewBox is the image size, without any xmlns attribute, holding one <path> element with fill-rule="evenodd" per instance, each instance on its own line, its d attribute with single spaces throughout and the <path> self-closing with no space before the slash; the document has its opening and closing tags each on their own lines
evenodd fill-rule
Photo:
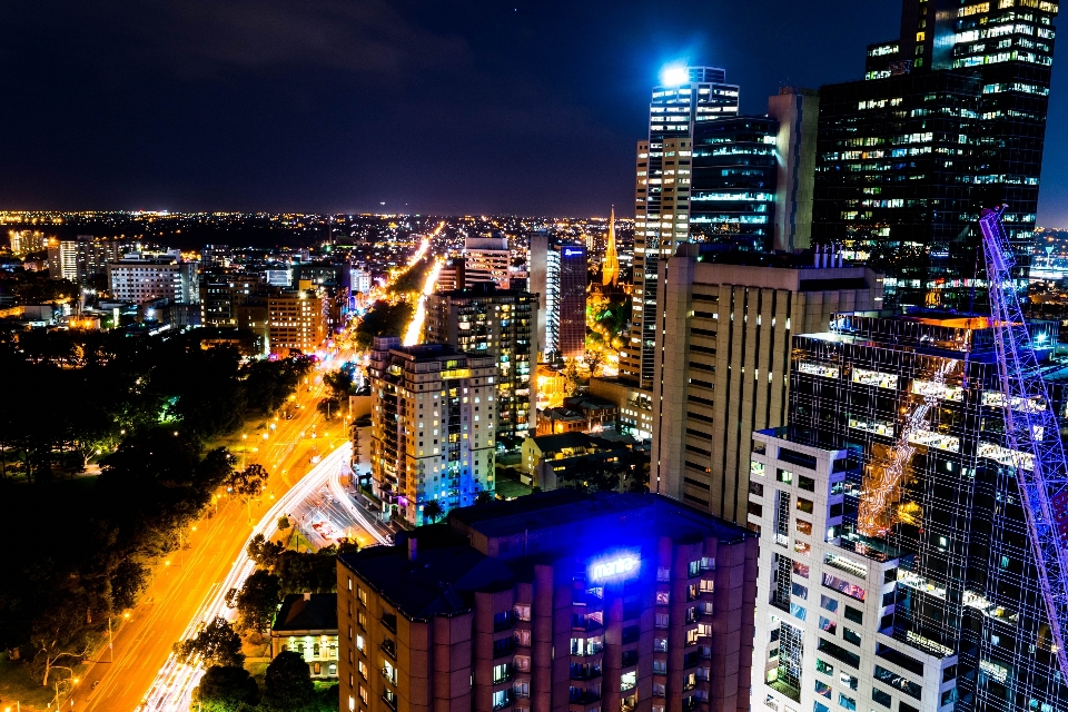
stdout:
<svg viewBox="0 0 1068 712">
<path fill-rule="evenodd" d="M 744 526 L 752 434 L 787 424 L 791 337 L 881 308 L 882 279 L 828 255 L 775 266 L 709 261 L 710 250 L 680 245 L 661 263 L 650 488 Z"/>
</svg>

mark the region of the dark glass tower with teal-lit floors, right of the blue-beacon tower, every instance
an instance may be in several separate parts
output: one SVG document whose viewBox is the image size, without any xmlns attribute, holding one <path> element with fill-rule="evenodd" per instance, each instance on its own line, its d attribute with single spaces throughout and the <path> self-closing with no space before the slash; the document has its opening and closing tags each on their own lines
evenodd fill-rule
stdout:
<svg viewBox="0 0 1068 712">
<path fill-rule="evenodd" d="M 716 118 L 694 126 L 689 181 L 690 239 L 743 250 L 771 249 L 775 230 L 778 135 L 779 121 L 771 117 Z M 665 166 L 668 160 L 664 159 Z M 665 202 L 666 180 L 665 176 Z M 683 196 L 676 195 L 675 205 L 681 206 L 682 199 Z M 676 241 L 682 240 L 685 236 Z"/>
</svg>

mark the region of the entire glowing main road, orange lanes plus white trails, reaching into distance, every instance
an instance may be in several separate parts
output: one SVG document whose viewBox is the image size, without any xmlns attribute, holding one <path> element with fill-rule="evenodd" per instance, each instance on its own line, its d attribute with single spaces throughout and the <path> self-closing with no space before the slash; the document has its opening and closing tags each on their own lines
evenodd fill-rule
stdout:
<svg viewBox="0 0 1068 712">
<path fill-rule="evenodd" d="M 437 226 L 434 236 L 443 225 Z M 429 238 L 424 238 L 407 268 L 429 247 Z M 439 266 L 434 275 L 438 270 Z M 427 284 L 433 281 L 428 279 Z M 388 288 L 385 285 L 383 289 Z M 248 541 L 256 533 L 274 533 L 281 514 L 296 514 L 308 501 L 323 500 L 320 491 L 335 500 L 327 502 L 324 516 L 328 513 L 336 518 L 360 544 L 388 541 L 387 531 L 355 507 L 340 485 L 340 475 L 349 474 L 352 453 L 347 419 L 326 423 L 316 411 L 325 395 L 322 374 L 332 362 L 355 357 L 343 347 L 309 375 L 289 404 L 291 419 L 274 418 L 266 428 L 243 434 L 235 454 L 243 466 L 258 462 L 270 473 L 266 496 L 253 503 L 250 512 L 243 503 L 222 497 L 211 518 L 202 520 L 195 531 L 186 533 L 188 546 L 155 567 L 145 602 L 121 625 L 116 625 L 113 662 L 105 650 L 81 675 L 82 683 L 63 701 L 62 709 L 186 712 L 202 671 L 187 664 L 192 661 L 178 661 L 171 654 L 174 643 L 195 634 L 201 621 L 215 615 L 230 617 L 233 612 L 226 607 L 224 596 L 254 568 L 245 552 Z M 319 458 L 317 464 L 313 464 L 315 457 Z"/>
</svg>

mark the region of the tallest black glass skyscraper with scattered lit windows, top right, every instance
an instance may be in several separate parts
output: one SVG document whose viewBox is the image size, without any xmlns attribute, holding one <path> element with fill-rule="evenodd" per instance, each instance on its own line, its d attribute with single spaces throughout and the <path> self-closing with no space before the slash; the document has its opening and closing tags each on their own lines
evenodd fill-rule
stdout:
<svg viewBox="0 0 1068 712">
<path fill-rule="evenodd" d="M 982 303 L 976 220 L 993 205 L 1026 278 L 1057 10 L 906 0 L 866 79 L 820 89 L 813 239 L 886 271 L 888 303 Z"/>
</svg>

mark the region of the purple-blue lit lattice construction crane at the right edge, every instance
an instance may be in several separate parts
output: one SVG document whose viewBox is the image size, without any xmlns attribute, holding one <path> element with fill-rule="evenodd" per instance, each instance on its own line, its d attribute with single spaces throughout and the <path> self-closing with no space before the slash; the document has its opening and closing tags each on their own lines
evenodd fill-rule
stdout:
<svg viewBox="0 0 1068 712">
<path fill-rule="evenodd" d="M 1061 674 L 1068 679 L 1068 465 L 1038 357 L 1020 310 L 1016 256 L 1001 222 L 1006 206 L 983 210 L 982 230 L 990 316 L 1005 396 L 1006 445 L 1019 483 L 1038 583 L 1049 615 Z"/>
</svg>

